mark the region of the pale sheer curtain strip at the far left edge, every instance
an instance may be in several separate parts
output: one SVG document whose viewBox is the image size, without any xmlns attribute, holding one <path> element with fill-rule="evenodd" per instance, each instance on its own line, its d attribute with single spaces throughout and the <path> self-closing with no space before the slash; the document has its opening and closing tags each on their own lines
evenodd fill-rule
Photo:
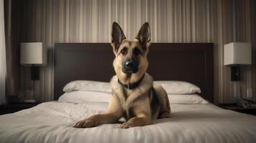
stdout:
<svg viewBox="0 0 256 143">
<path fill-rule="evenodd" d="M 6 80 L 6 51 L 4 38 L 4 0 L 0 0 L 0 104 L 6 102 L 5 98 Z"/>
</svg>

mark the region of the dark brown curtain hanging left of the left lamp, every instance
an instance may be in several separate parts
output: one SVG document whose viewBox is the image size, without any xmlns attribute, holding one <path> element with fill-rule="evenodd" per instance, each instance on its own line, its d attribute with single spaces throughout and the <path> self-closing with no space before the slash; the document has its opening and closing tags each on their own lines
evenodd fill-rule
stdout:
<svg viewBox="0 0 256 143">
<path fill-rule="evenodd" d="M 16 102 L 19 94 L 19 36 L 21 12 L 19 0 L 4 0 L 6 38 L 6 96 L 8 102 Z"/>
</svg>

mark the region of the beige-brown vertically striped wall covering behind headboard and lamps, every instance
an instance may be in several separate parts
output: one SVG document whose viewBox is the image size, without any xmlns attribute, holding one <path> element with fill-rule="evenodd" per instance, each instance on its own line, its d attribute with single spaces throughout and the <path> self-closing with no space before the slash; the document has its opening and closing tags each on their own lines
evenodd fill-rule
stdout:
<svg viewBox="0 0 256 143">
<path fill-rule="evenodd" d="M 110 42 L 113 21 L 134 39 L 143 22 L 151 26 L 152 42 L 214 43 L 214 102 L 230 102 L 237 94 L 223 65 L 224 44 L 252 41 L 252 0 L 23 0 L 21 41 L 42 41 L 47 66 L 36 82 L 38 101 L 53 99 L 54 43 Z M 253 43 L 255 47 L 255 43 Z M 255 50 L 253 57 L 255 57 Z M 243 96 L 256 91 L 255 61 L 242 67 Z M 29 70 L 22 67 L 22 90 L 29 87 Z M 255 71 L 254 71 L 255 73 Z"/>
</svg>

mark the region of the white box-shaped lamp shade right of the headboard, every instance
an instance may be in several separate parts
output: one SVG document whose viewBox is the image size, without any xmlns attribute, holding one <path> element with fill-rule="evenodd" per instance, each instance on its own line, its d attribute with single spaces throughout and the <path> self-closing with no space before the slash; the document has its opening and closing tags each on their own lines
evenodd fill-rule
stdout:
<svg viewBox="0 0 256 143">
<path fill-rule="evenodd" d="M 224 45 L 224 65 L 252 64 L 252 44 L 232 42 Z"/>
</svg>

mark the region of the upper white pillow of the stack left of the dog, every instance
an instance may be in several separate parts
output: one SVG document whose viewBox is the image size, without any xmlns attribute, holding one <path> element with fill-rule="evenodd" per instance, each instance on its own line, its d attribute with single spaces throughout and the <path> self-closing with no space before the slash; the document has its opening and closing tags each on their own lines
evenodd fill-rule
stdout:
<svg viewBox="0 0 256 143">
<path fill-rule="evenodd" d="M 65 85 L 63 92 L 72 91 L 91 91 L 91 92 L 107 92 L 111 93 L 111 87 L 109 82 L 95 82 L 87 80 L 77 80 Z"/>
</svg>

